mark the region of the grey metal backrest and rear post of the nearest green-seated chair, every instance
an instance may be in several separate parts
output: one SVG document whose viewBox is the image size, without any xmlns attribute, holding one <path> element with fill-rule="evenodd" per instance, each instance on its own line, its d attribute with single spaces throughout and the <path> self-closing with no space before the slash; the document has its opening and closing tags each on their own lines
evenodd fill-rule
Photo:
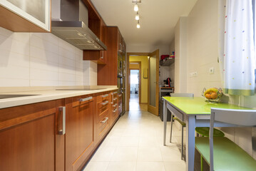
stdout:
<svg viewBox="0 0 256 171">
<path fill-rule="evenodd" d="M 256 125 L 256 110 L 235 110 L 211 108 L 210 113 L 210 171 L 213 171 L 213 127 L 214 122 L 230 123 L 241 126 Z"/>
</svg>

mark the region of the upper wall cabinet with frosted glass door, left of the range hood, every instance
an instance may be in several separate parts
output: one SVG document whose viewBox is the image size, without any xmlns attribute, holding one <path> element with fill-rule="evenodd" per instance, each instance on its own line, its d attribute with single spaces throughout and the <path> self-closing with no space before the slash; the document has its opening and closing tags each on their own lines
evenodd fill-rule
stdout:
<svg viewBox="0 0 256 171">
<path fill-rule="evenodd" d="M 0 18 L 10 31 L 51 31 L 51 0 L 0 0 Z"/>
</svg>

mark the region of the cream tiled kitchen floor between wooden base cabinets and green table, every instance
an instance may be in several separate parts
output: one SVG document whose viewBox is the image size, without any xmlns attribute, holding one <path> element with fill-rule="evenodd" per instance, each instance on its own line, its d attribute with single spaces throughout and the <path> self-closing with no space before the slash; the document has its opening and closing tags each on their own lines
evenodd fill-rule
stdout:
<svg viewBox="0 0 256 171">
<path fill-rule="evenodd" d="M 180 139 L 180 131 L 174 127 L 173 143 L 163 146 L 163 122 L 159 117 L 146 111 L 126 112 L 83 171 L 183 171 Z"/>
</svg>

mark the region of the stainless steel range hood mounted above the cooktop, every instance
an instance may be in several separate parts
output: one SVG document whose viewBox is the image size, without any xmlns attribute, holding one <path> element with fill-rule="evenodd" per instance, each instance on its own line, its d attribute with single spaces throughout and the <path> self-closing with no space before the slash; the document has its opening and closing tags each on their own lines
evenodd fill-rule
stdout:
<svg viewBox="0 0 256 171">
<path fill-rule="evenodd" d="M 51 3 L 51 33 L 81 50 L 107 50 L 88 28 L 88 10 L 83 1 L 56 0 Z"/>
</svg>

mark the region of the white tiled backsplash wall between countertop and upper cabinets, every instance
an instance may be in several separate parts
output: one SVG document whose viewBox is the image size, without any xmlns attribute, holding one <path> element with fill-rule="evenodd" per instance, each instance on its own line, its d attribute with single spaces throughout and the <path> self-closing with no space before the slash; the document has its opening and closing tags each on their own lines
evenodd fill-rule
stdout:
<svg viewBox="0 0 256 171">
<path fill-rule="evenodd" d="M 83 51 L 51 33 L 14 33 L 0 27 L 0 86 L 96 85 Z M 97 72 L 97 65 L 91 64 Z M 91 82 L 83 78 L 83 72 Z"/>
</svg>

